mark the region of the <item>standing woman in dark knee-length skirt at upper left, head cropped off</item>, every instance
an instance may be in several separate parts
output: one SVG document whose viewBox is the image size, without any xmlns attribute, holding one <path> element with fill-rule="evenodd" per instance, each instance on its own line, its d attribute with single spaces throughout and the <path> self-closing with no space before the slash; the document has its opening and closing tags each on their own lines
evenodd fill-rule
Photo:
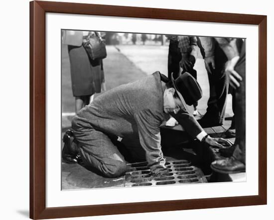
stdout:
<svg viewBox="0 0 274 220">
<path fill-rule="evenodd" d="M 90 59 L 82 45 L 90 36 L 95 34 L 100 36 L 99 32 L 95 33 L 94 31 L 63 31 L 63 44 L 68 45 L 76 113 L 92 102 L 91 97 L 95 93 L 101 93 L 102 84 L 104 85 L 105 82 L 102 59 Z"/>
</svg>

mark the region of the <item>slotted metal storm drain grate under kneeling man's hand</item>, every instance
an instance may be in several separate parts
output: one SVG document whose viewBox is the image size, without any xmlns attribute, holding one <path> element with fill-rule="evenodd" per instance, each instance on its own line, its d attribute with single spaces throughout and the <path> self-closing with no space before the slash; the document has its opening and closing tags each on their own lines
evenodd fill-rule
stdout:
<svg viewBox="0 0 274 220">
<path fill-rule="evenodd" d="M 203 172 L 187 160 L 167 161 L 165 165 L 168 168 L 168 174 L 163 177 L 154 177 L 146 162 L 128 164 L 126 187 L 207 183 Z"/>
</svg>

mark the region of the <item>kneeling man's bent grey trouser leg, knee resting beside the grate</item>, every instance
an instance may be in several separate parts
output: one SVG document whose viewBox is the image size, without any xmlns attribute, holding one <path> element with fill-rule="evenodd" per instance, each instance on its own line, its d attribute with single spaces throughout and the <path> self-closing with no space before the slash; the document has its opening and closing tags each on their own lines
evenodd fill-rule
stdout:
<svg viewBox="0 0 274 220">
<path fill-rule="evenodd" d="M 77 120 L 77 116 L 73 119 L 72 129 L 85 165 L 96 168 L 107 177 L 124 175 L 127 163 L 108 135 Z"/>
</svg>

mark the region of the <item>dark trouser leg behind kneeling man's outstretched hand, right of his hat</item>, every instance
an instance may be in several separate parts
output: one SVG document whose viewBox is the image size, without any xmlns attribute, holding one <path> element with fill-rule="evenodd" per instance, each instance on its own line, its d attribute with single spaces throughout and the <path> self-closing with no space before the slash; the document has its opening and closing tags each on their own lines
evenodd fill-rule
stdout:
<svg viewBox="0 0 274 220">
<path fill-rule="evenodd" d="M 227 57 L 217 42 L 214 53 L 215 70 L 212 71 L 212 74 L 208 73 L 210 96 L 207 103 L 207 114 L 219 118 L 219 122 L 222 123 L 225 117 L 228 94 L 228 80 L 224 71 Z"/>
</svg>

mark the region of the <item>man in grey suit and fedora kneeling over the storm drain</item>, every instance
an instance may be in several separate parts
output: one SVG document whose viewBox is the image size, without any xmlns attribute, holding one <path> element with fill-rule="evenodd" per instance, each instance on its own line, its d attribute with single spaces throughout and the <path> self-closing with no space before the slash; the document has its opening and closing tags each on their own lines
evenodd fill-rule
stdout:
<svg viewBox="0 0 274 220">
<path fill-rule="evenodd" d="M 143 155 L 152 175 L 165 175 L 168 171 L 160 145 L 164 113 L 172 115 L 193 138 L 220 147 L 217 142 L 225 141 L 208 136 L 190 113 L 189 106 L 201 97 L 201 88 L 189 73 L 168 81 L 155 72 L 109 90 L 72 119 L 72 131 L 64 135 L 63 160 L 77 162 L 80 154 L 85 165 L 104 176 L 121 176 L 127 164 L 116 143 L 122 139 L 133 156 Z"/>
</svg>

